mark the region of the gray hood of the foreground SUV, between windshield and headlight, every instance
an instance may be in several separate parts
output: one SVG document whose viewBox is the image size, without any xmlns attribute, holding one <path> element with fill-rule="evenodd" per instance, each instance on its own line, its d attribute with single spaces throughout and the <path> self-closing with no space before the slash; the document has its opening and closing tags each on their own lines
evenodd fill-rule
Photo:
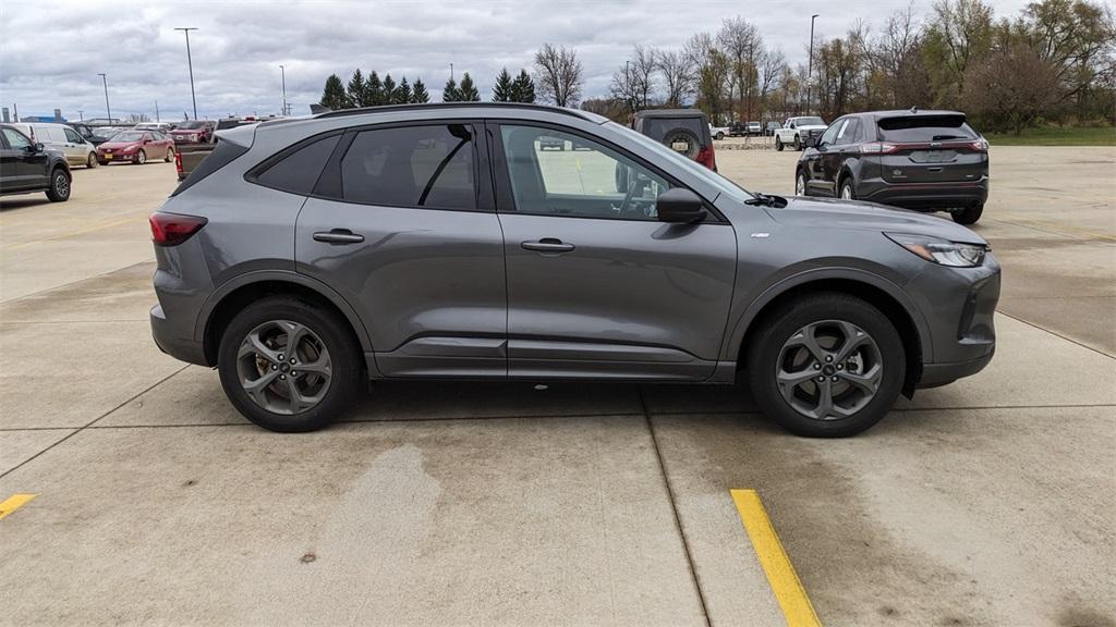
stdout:
<svg viewBox="0 0 1116 627">
<path fill-rule="evenodd" d="M 769 208 L 768 214 L 780 224 L 799 229 L 886 231 L 988 244 L 984 238 L 950 220 L 869 202 L 789 197 L 787 206 Z"/>
</svg>

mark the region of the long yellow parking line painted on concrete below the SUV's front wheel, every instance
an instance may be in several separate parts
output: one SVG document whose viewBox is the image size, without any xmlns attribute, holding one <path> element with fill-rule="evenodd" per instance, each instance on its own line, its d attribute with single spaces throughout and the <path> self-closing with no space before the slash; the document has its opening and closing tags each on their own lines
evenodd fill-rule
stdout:
<svg viewBox="0 0 1116 627">
<path fill-rule="evenodd" d="M 782 609 L 788 627 L 820 627 L 821 621 L 810 605 L 809 597 L 802 588 L 802 582 L 795 572 L 795 567 L 787 557 L 787 551 L 779 541 L 779 534 L 771 525 L 767 510 L 754 490 L 731 490 L 732 500 L 737 503 L 740 520 L 744 523 L 748 537 L 752 540 L 756 556 L 767 573 L 771 591 Z"/>
</svg>

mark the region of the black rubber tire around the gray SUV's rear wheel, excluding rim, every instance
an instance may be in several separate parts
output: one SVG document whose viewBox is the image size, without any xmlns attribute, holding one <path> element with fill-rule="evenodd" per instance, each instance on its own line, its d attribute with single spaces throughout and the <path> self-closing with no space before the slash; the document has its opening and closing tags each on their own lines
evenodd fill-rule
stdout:
<svg viewBox="0 0 1116 627">
<path fill-rule="evenodd" d="M 240 383 L 237 354 L 244 338 L 260 325 L 290 320 L 305 325 L 329 354 L 331 375 L 323 398 L 296 414 L 268 411 L 248 395 Z M 237 314 L 221 335 L 218 349 L 221 386 L 232 405 L 246 418 L 269 431 L 299 433 L 323 428 L 339 417 L 362 389 L 362 351 L 349 331 L 348 321 L 315 302 L 290 296 L 258 300 Z"/>
</svg>

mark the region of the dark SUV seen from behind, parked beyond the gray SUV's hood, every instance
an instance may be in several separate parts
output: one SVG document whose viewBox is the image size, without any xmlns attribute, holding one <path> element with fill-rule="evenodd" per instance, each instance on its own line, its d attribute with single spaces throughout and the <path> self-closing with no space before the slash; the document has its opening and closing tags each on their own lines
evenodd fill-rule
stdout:
<svg viewBox="0 0 1116 627">
<path fill-rule="evenodd" d="M 980 220 L 988 200 L 988 142 L 949 110 L 850 114 L 807 141 L 795 193 L 838 196 Z"/>
</svg>

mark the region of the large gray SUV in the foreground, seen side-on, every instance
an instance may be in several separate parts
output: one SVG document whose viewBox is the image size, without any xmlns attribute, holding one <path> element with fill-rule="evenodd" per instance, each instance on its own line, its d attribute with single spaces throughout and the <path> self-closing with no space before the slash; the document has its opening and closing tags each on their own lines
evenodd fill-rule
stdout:
<svg viewBox="0 0 1116 627">
<path fill-rule="evenodd" d="M 221 139 L 151 216 L 152 329 L 270 430 L 327 425 L 367 379 L 743 378 L 790 431 L 843 436 L 992 358 L 1000 269 L 972 231 L 750 193 L 586 112 L 386 106 Z"/>
</svg>

